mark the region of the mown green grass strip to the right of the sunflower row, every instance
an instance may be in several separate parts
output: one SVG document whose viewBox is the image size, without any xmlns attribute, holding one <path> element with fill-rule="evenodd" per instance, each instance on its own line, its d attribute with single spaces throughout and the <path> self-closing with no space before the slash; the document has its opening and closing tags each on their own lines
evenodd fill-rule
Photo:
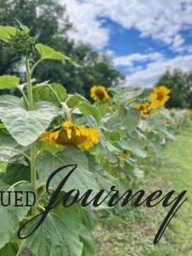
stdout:
<svg viewBox="0 0 192 256">
<path fill-rule="evenodd" d="M 96 256 L 192 256 L 192 125 L 175 136 L 162 152 L 161 164 L 146 168 L 145 183 L 141 189 L 177 193 L 187 190 L 189 200 L 172 218 L 164 236 L 157 245 L 154 236 L 166 212 L 158 207 L 130 207 L 125 217 L 100 218 L 93 234 Z"/>
</svg>

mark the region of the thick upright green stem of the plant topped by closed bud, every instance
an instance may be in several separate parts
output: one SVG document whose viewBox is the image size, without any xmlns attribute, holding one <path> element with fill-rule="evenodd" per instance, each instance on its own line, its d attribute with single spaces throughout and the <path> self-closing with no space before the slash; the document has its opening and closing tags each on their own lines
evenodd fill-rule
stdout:
<svg viewBox="0 0 192 256">
<path fill-rule="evenodd" d="M 27 81 L 27 96 L 29 102 L 29 110 L 33 110 L 32 97 L 32 79 L 30 74 L 29 59 L 26 58 L 26 81 Z M 36 150 L 35 143 L 31 144 L 31 183 L 34 192 L 36 193 L 36 169 L 35 169 Z M 36 205 L 32 207 L 32 216 L 36 214 Z"/>
</svg>

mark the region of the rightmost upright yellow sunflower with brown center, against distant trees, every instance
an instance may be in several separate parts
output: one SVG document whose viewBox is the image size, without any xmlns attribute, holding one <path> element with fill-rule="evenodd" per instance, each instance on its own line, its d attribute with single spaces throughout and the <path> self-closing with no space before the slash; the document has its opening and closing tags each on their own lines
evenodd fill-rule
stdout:
<svg viewBox="0 0 192 256">
<path fill-rule="evenodd" d="M 170 90 L 166 86 L 155 87 L 154 91 L 150 94 L 152 107 L 159 108 L 164 106 L 169 99 Z"/>
</svg>

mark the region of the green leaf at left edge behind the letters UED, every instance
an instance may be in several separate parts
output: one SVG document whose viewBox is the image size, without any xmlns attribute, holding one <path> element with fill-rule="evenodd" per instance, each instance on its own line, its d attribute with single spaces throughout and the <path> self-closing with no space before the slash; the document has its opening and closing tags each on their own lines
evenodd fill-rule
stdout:
<svg viewBox="0 0 192 256">
<path fill-rule="evenodd" d="M 0 180 L 0 191 L 32 191 L 29 183 L 20 183 L 15 187 L 3 183 Z M 26 195 L 23 193 L 23 201 Z M 3 195 L 4 201 L 8 201 L 8 194 Z M 0 229 L 0 248 L 2 248 L 15 235 L 19 228 L 20 221 L 26 216 L 29 207 L 14 207 L 15 195 L 11 195 L 11 204 L 9 207 L 0 207 L 1 229 Z"/>
</svg>

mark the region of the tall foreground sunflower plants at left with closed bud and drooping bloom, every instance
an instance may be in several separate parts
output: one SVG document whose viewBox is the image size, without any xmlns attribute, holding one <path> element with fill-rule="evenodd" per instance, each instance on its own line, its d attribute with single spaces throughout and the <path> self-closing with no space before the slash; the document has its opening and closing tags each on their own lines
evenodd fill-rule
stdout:
<svg viewBox="0 0 192 256">
<path fill-rule="evenodd" d="M 2 192 L 33 190 L 37 196 L 33 207 L 0 207 L 5 223 L 0 231 L 0 254 L 93 255 L 91 225 L 86 223 L 91 214 L 79 204 L 55 207 L 38 232 L 24 241 L 17 238 L 17 230 L 46 207 L 49 195 L 45 183 L 58 167 L 78 165 L 65 189 L 79 189 L 81 193 L 100 189 L 99 173 L 90 169 L 89 161 L 91 148 L 99 143 L 101 114 L 83 96 L 67 95 L 61 84 L 35 83 L 33 72 L 42 61 L 69 61 L 80 68 L 71 58 L 38 44 L 20 23 L 19 27 L 0 26 L 0 39 L 12 45 L 26 73 L 23 84 L 15 76 L 0 77 L 0 90 L 20 92 L 19 97 L 0 96 L 0 188 Z M 62 178 L 63 174 L 57 177 L 57 184 Z M 65 189 L 62 193 L 67 192 Z"/>
</svg>

